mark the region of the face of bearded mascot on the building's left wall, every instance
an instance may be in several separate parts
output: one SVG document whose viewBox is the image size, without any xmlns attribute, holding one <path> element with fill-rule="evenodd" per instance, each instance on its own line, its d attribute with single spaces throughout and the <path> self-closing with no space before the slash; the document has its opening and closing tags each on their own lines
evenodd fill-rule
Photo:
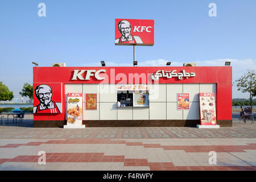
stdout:
<svg viewBox="0 0 256 182">
<path fill-rule="evenodd" d="M 48 85 L 39 85 L 35 89 L 36 97 L 40 103 L 48 105 L 52 100 L 52 89 Z"/>
</svg>

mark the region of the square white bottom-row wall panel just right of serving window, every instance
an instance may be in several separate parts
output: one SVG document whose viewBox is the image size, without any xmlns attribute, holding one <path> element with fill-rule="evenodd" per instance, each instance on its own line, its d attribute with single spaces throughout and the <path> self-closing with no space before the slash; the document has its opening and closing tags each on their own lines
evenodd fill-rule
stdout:
<svg viewBox="0 0 256 182">
<path fill-rule="evenodd" d="M 166 119 L 166 102 L 150 102 L 150 119 Z"/>
</svg>

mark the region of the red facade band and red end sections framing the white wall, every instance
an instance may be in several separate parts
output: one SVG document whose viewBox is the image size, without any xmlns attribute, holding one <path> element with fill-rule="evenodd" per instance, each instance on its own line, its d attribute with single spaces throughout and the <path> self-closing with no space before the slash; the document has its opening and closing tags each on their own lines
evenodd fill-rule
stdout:
<svg viewBox="0 0 256 182">
<path fill-rule="evenodd" d="M 72 80 L 74 71 L 81 71 L 80 80 Z M 91 75 L 86 75 L 87 71 Z M 104 70 L 98 74 L 105 77 L 97 80 L 95 72 Z M 193 77 L 159 77 L 158 81 L 152 81 L 151 75 L 158 72 L 195 73 Z M 86 76 L 89 78 L 85 80 Z M 33 79 L 36 82 L 62 83 L 63 86 L 63 113 L 60 114 L 34 114 L 34 120 L 65 120 L 65 84 L 108 84 L 108 83 L 159 83 L 159 84 L 216 84 L 216 111 L 217 120 L 232 119 L 232 67 L 34 67 Z"/>
</svg>

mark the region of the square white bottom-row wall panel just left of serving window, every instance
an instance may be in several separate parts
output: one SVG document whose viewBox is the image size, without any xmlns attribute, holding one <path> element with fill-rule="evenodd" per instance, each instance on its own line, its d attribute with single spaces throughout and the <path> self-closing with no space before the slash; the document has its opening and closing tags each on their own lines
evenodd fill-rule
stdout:
<svg viewBox="0 0 256 182">
<path fill-rule="evenodd" d="M 116 102 L 100 102 L 100 120 L 116 120 L 117 119 L 117 103 Z"/>
</svg>

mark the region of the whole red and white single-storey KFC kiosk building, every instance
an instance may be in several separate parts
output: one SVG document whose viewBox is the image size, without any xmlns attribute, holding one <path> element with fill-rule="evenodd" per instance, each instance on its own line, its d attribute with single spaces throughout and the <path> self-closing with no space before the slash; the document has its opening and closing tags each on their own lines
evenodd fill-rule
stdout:
<svg viewBox="0 0 256 182">
<path fill-rule="evenodd" d="M 232 126 L 232 67 L 34 67 L 33 82 L 34 127 Z"/>
</svg>

